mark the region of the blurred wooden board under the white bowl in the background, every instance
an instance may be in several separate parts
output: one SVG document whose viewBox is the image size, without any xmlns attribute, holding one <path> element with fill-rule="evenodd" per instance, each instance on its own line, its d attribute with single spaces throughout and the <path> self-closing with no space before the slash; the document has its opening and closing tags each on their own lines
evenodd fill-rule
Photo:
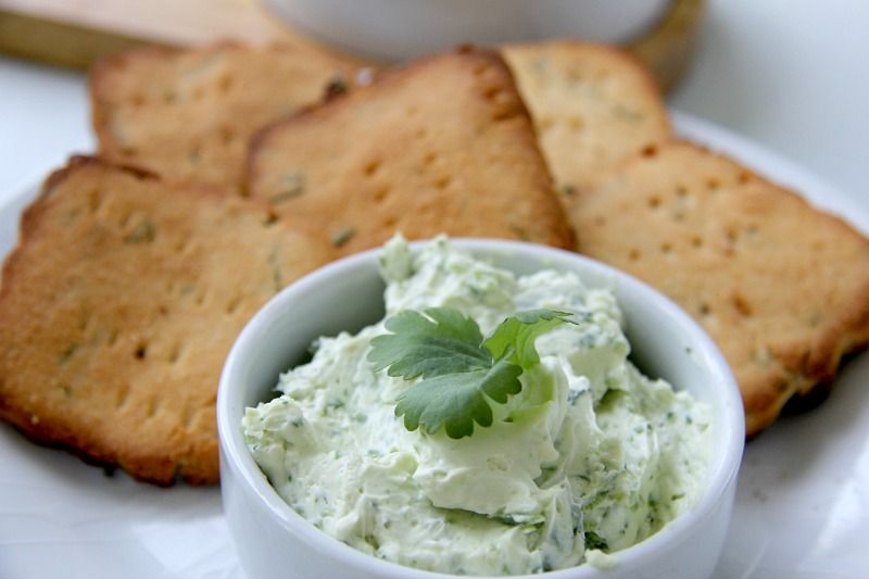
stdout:
<svg viewBox="0 0 869 579">
<path fill-rule="evenodd" d="M 672 0 L 658 26 L 626 47 L 665 90 L 690 62 L 703 3 Z M 317 45 L 259 0 L 0 0 L 0 52 L 73 68 L 138 45 L 216 39 Z"/>
</svg>

